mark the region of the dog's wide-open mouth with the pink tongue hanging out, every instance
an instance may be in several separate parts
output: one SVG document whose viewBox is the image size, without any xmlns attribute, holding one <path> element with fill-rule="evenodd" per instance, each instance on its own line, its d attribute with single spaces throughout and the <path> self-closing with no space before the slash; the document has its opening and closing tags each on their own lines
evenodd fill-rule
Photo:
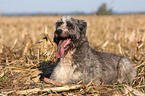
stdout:
<svg viewBox="0 0 145 96">
<path fill-rule="evenodd" d="M 65 51 L 70 48 L 71 43 L 72 41 L 70 38 L 60 39 L 57 45 L 56 57 L 63 57 Z"/>
</svg>

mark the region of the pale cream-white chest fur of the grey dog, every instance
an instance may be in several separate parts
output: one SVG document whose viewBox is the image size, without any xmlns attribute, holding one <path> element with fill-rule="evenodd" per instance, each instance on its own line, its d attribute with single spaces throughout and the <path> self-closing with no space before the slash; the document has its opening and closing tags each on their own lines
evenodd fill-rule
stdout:
<svg viewBox="0 0 145 96">
<path fill-rule="evenodd" d="M 73 51 L 68 52 L 65 58 L 62 58 L 59 64 L 56 66 L 53 73 L 53 79 L 55 81 L 66 84 L 79 79 L 81 73 L 74 72 L 76 67 L 72 66 L 72 54 Z"/>
</svg>

